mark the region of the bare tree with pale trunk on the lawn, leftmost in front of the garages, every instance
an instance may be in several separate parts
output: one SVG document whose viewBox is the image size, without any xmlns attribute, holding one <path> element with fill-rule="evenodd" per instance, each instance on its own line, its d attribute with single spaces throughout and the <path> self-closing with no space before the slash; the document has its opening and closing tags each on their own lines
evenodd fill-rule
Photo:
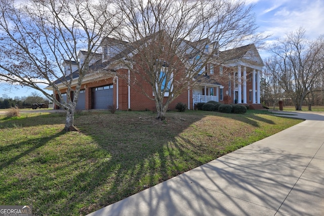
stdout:
<svg viewBox="0 0 324 216">
<path fill-rule="evenodd" d="M 41 91 L 66 109 L 65 131 L 76 130 L 73 114 L 80 85 L 91 72 L 89 64 L 102 37 L 114 29 L 109 10 L 109 1 L 29 0 L 19 4 L 0 0 L 0 80 Z M 82 63 L 77 58 L 79 50 L 87 53 Z M 76 83 L 72 83 L 72 63 L 77 66 Z M 66 101 L 58 83 L 66 88 Z M 59 99 L 39 84 L 51 85 Z"/>
</svg>

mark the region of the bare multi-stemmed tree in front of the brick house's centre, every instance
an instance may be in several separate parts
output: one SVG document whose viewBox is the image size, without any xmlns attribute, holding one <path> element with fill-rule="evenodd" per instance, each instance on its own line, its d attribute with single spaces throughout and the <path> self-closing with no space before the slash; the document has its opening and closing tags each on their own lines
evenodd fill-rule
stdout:
<svg viewBox="0 0 324 216">
<path fill-rule="evenodd" d="M 114 37 L 125 42 L 118 47 L 107 40 L 107 47 L 124 51 L 124 58 L 112 56 L 111 62 L 130 69 L 125 78 L 155 101 L 161 120 L 169 104 L 203 78 L 202 71 L 222 63 L 219 50 L 260 36 L 254 34 L 252 6 L 237 1 L 116 0 L 114 6 L 123 20 Z M 143 81 L 150 91 L 141 88 Z"/>
</svg>

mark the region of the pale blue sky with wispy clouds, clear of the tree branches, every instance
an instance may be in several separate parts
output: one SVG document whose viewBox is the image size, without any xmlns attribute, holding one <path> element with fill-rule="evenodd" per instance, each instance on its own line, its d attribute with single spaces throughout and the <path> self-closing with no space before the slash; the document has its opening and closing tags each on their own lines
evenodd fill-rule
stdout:
<svg viewBox="0 0 324 216">
<path fill-rule="evenodd" d="M 310 39 L 324 34 L 324 0 L 247 0 L 246 3 L 255 4 L 259 31 L 271 35 L 266 39 L 266 44 L 299 27 L 306 30 L 306 36 Z M 261 58 L 268 55 L 265 51 L 259 52 Z M 9 98 L 29 96 L 32 92 L 36 90 L 0 84 L 0 97 L 4 94 Z"/>
</svg>

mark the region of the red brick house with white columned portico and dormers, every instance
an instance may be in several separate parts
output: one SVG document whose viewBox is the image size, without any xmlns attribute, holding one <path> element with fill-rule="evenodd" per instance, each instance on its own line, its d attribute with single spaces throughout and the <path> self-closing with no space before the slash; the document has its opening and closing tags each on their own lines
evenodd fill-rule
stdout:
<svg viewBox="0 0 324 216">
<path fill-rule="evenodd" d="M 132 79 L 140 79 L 140 77 L 133 76 L 132 70 L 120 63 L 116 63 L 118 65 L 114 67 L 116 69 L 113 71 L 107 70 L 108 66 L 111 68 L 111 65 L 117 62 L 113 60 L 125 57 L 124 48 L 128 46 L 127 42 L 108 37 L 103 41 L 106 42 L 101 44 L 102 54 L 94 54 L 93 60 L 90 62 L 92 72 L 83 79 L 76 109 L 107 109 L 109 105 L 114 105 L 118 110 L 154 110 L 155 103 L 154 100 L 151 100 L 154 97 L 151 85 L 144 81 L 141 87 L 132 84 Z M 84 51 L 79 52 L 80 64 L 83 63 L 84 54 Z M 178 102 L 187 104 L 188 109 L 194 109 L 196 103 L 211 100 L 220 103 L 244 104 L 252 109 L 262 108 L 260 104 L 260 71 L 264 64 L 256 47 L 253 44 L 247 45 L 219 52 L 218 55 L 218 59 L 210 61 L 200 71 L 202 76 L 196 80 L 194 87 L 183 91 L 169 105 L 171 110 L 175 109 Z M 222 60 L 221 64 L 219 59 Z M 72 89 L 75 90 L 78 76 L 76 63 L 64 61 L 63 66 L 67 68 L 65 75 L 74 71 L 69 77 L 72 77 Z M 134 67 L 136 66 L 135 63 Z M 128 80 L 121 77 L 128 77 Z M 55 82 L 63 100 L 66 100 L 66 86 L 60 79 Z M 46 89 L 53 90 L 51 86 Z M 143 91 L 151 99 L 145 96 Z M 59 100 L 57 92 L 53 94 Z M 70 94 L 73 97 L 73 92 Z M 165 96 L 168 97 L 168 95 Z M 59 109 L 57 105 L 54 108 Z"/>
</svg>

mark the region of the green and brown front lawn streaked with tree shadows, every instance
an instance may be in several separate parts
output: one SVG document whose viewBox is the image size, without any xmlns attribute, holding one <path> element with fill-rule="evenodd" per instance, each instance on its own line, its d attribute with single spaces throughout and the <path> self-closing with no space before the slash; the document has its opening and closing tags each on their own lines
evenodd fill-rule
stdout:
<svg viewBox="0 0 324 216">
<path fill-rule="evenodd" d="M 82 112 L 0 116 L 0 203 L 35 215 L 85 215 L 275 134 L 301 120 L 267 111 L 224 114 Z"/>
</svg>

